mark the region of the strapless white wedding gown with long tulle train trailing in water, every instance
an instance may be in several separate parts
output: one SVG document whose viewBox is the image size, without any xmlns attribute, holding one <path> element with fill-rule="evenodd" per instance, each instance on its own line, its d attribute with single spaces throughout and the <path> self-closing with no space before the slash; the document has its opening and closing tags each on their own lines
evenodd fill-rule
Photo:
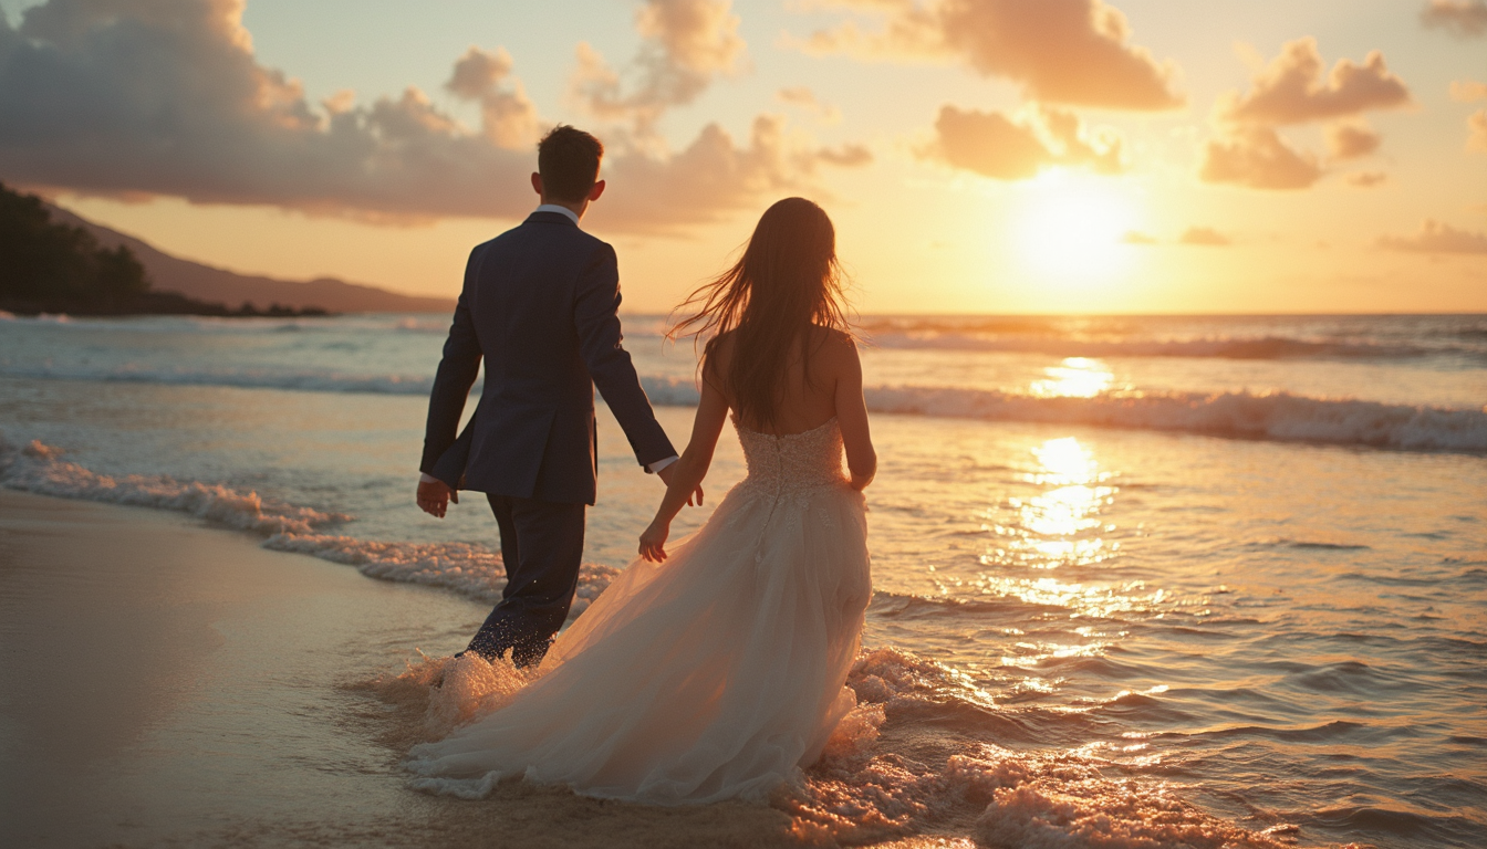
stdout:
<svg viewBox="0 0 1487 849">
<path fill-rule="evenodd" d="M 635 561 L 495 712 L 413 748 L 415 787 L 523 776 L 660 804 L 763 798 L 819 755 L 871 595 L 836 419 L 738 427 L 748 477 L 663 564 Z"/>
</svg>

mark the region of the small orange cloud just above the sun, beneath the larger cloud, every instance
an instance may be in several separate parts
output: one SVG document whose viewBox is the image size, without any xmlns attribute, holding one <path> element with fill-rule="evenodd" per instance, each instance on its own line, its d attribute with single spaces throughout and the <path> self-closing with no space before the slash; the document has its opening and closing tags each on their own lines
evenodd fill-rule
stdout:
<svg viewBox="0 0 1487 849">
<path fill-rule="evenodd" d="M 1068 112 L 1045 109 L 1039 117 L 1041 132 L 999 112 L 943 106 L 934 125 L 935 138 L 919 153 L 995 180 L 1028 180 L 1050 165 L 1088 167 L 1100 172 L 1121 170 L 1118 140 L 1088 141 L 1078 119 Z"/>
</svg>

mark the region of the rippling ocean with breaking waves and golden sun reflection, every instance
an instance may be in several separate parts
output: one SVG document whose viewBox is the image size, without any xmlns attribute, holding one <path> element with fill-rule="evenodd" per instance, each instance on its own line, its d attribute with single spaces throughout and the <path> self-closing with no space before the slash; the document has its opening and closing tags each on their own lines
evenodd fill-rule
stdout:
<svg viewBox="0 0 1487 849">
<path fill-rule="evenodd" d="M 6 317 L 0 485 L 492 601 L 483 500 L 442 522 L 412 500 L 446 326 Z M 625 327 L 681 448 L 693 349 L 662 317 Z M 1487 845 L 1487 317 L 861 333 L 862 706 L 781 803 L 803 839 Z M 662 492 L 602 407 L 599 453 L 575 614 Z M 742 473 L 726 433 L 675 534 Z"/>
</svg>

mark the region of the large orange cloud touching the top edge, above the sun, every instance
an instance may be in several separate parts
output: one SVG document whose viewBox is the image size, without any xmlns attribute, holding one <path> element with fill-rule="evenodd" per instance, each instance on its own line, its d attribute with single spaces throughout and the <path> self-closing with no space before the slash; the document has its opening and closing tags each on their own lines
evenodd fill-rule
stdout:
<svg viewBox="0 0 1487 849">
<path fill-rule="evenodd" d="M 1130 25 L 1103 0 L 843 0 L 882 18 L 813 33 L 804 49 L 864 59 L 961 61 L 1044 103 L 1121 110 L 1176 109 L 1176 65 L 1130 43 Z"/>
</svg>

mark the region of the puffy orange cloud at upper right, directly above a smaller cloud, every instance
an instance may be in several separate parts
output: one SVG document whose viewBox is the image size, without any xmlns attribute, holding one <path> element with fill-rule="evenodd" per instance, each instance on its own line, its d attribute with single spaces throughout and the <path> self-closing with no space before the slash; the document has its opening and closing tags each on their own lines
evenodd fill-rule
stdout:
<svg viewBox="0 0 1487 849">
<path fill-rule="evenodd" d="M 1408 86 L 1389 71 L 1378 51 L 1370 52 L 1361 65 L 1340 59 L 1326 79 L 1323 70 L 1316 39 L 1297 39 L 1255 76 L 1248 94 L 1224 107 L 1225 117 L 1282 126 L 1413 103 Z"/>
</svg>

